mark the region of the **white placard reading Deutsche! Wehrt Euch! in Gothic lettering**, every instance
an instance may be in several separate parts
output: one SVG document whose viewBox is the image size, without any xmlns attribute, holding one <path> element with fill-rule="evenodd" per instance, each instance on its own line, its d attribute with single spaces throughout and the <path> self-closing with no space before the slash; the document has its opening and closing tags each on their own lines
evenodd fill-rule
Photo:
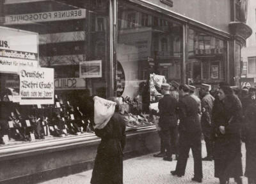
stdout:
<svg viewBox="0 0 256 184">
<path fill-rule="evenodd" d="M 21 67 L 20 104 L 54 103 L 54 69 Z"/>
</svg>

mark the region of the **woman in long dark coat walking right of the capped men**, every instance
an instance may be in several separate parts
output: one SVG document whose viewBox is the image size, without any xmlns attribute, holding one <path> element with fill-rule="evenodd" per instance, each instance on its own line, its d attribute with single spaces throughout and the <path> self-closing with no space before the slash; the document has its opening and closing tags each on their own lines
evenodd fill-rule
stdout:
<svg viewBox="0 0 256 184">
<path fill-rule="evenodd" d="M 232 88 L 220 88 L 218 108 L 214 111 L 214 176 L 220 179 L 220 184 L 229 178 L 235 178 L 239 184 L 243 176 L 241 154 L 241 102 L 234 95 Z M 218 117 L 218 118 L 216 118 Z"/>
</svg>

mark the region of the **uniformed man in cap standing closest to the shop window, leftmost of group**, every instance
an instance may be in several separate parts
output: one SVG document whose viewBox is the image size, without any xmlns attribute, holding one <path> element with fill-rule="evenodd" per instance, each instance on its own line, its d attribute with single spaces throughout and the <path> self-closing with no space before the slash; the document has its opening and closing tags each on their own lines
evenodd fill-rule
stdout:
<svg viewBox="0 0 256 184">
<path fill-rule="evenodd" d="M 161 152 L 154 155 L 154 157 L 164 157 L 164 160 L 172 161 L 172 149 L 175 148 L 171 148 L 170 140 L 176 142 L 177 139 L 175 138 L 177 136 L 175 130 L 177 130 L 176 109 L 178 101 L 170 95 L 169 90 L 170 85 L 168 83 L 161 85 L 161 94 L 163 94 L 163 97 L 158 103 L 159 112 L 157 113 L 156 110 L 152 110 L 152 114 L 159 116 L 159 127 L 161 128 Z M 164 153 L 165 150 L 166 154 Z"/>
</svg>

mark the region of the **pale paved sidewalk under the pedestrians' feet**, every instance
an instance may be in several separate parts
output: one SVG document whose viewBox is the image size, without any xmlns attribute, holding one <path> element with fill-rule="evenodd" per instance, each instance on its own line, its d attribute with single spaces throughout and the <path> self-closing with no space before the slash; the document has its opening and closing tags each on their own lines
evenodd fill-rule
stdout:
<svg viewBox="0 0 256 184">
<path fill-rule="evenodd" d="M 245 148 L 242 145 L 243 167 L 245 166 Z M 202 156 L 205 157 L 205 142 L 202 141 Z M 173 155 L 173 159 L 175 156 Z M 189 153 L 186 174 L 182 178 L 172 176 L 170 171 L 175 170 L 177 161 L 164 161 L 162 158 L 155 158 L 153 154 L 136 157 L 134 159 L 124 160 L 124 184 L 166 184 L 166 183 L 197 183 L 191 181 L 193 178 L 193 156 Z M 214 162 L 203 161 L 203 182 L 205 184 L 218 184 L 218 178 L 214 178 Z M 89 184 L 92 176 L 92 170 L 83 173 L 73 174 L 63 178 L 57 178 L 45 181 L 41 184 Z M 230 179 L 230 184 L 236 183 L 234 179 Z M 247 178 L 243 177 L 243 183 L 247 183 Z"/>
</svg>

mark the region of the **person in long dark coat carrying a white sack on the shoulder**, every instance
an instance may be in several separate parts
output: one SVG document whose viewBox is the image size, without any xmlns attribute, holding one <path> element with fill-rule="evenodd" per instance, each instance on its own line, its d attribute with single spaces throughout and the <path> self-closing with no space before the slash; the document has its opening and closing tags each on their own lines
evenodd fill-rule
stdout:
<svg viewBox="0 0 256 184">
<path fill-rule="evenodd" d="M 125 121 L 120 114 L 120 104 L 115 97 L 115 113 L 103 129 L 95 129 L 101 138 L 92 172 L 92 184 L 123 183 L 123 150 L 125 146 Z"/>
</svg>

